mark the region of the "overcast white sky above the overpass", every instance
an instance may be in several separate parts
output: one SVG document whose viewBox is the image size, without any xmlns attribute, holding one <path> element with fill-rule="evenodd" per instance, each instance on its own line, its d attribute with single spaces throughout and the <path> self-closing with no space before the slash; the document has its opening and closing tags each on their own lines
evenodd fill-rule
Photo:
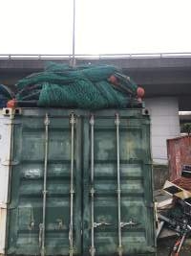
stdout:
<svg viewBox="0 0 191 256">
<path fill-rule="evenodd" d="M 76 54 L 191 52 L 191 0 L 75 0 Z M 72 53 L 73 0 L 0 0 L 0 54 Z"/>
</svg>

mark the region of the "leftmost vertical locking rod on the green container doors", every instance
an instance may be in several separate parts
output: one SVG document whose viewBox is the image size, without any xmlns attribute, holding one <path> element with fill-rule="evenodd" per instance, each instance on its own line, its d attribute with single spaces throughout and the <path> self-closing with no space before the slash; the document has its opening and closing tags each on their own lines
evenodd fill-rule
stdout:
<svg viewBox="0 0 191 256">
<path fill-rule="evenodd" d="M 49 151 L 49 124 L 48 114 L 45 117 L 45 159 L 44 159 L 44 184 L 43 184 L 43 214 L 42 214 L 42 234 L 41 256 L 45 255 L 45 225 L 46 225 L 46 203 L 47 203 L 47 169 L 48 169 L 48 151 Z"/>
</svg>

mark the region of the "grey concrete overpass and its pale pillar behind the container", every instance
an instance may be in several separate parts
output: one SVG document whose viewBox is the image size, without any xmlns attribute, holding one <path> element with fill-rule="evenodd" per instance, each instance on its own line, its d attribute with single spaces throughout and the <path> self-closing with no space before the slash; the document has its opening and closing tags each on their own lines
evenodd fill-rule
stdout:
<svg viewBox="0 0 191 256">
<path fill-rule="evenodd" d="M 46 61 L 70 62 L 70 56 L 0 56 L 0 83 L 43 70 Z M 77 64 L 113 64 L 145 88 L 152 123 L 152 151 L 157 179 L 167 177 L 166 140 L 180 135 L 179 111 L 191 110 L 191 55 L 120 55 L 76 57 Z M 160 176 L 159 176 L 160 174 Z"/>
</svg>

